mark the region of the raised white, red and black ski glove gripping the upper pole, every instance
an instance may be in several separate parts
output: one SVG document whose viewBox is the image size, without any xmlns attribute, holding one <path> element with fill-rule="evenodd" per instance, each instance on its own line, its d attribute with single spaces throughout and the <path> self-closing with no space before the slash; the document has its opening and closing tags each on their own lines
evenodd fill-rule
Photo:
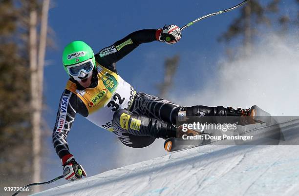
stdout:
<svg viewBox="0 0 299 196">
<path fill-rule="evenodd" d="M 167 44 L 178 42 L 182 37 L 181 30 L 176 25 L 164 26 L 163 29 L 158 29 L 156 32 L 156 39 Z"/>
</svg>

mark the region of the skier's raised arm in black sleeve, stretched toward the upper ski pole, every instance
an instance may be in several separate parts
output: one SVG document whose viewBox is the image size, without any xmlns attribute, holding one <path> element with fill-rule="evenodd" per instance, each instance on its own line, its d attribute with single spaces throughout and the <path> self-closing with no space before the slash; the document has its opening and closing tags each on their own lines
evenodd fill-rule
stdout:
<svg viewBox="0 0 299 196">
<path fill-rule="evenodd" d="M 107 69 L 116 72 L 115 63 L 128 55 L 142 43 L 148 43 L 159 39 L 161 30 L 144 29 L 135 31 L 123 39 L 103 48 L 95 54 L 96 61 Z"/>
</svg>

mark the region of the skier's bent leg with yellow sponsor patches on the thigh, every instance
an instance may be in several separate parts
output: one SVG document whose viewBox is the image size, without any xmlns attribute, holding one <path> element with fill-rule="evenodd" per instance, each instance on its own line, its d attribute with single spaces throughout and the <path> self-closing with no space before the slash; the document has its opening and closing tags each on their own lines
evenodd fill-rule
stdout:
<svg viewBox="0 0 299 196">
<path fill-rule="evenodd" d="M 170 122 L 133 114 L 127 110 L 116 111 L 112 124 L 117 137 L 125 145 L 132 147 L 145 147 L 147 143 L 152 143 L 154 138 L 176 137 L 176 129 Z"/>
</svg>

